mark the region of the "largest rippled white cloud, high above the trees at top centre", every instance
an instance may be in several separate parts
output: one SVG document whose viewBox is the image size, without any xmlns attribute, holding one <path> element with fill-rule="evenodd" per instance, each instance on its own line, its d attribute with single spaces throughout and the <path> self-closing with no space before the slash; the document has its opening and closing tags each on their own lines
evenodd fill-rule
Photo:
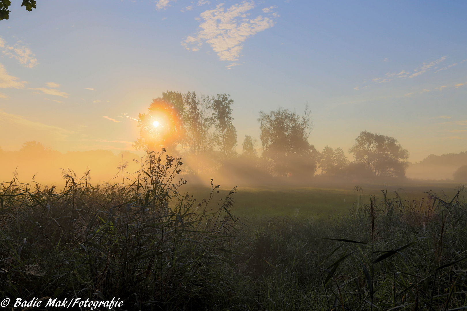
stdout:
<svg viewBox="0 0 467 311">
<path fill-rule="evenodd" d="M 219 4 L 213 10 L 200 14 L 204 20 L 195 36 L 188 36 L 182 45 L 192 51 L 198 51 L 203 42 L 208 43 L 221 61 L 236 61 L 243 46 L 241 43 L 257 32 L 274 26 L 273 18 L 257 16 L 248 19 L 247 12 L 255 8 L 253 1 L 243 1 L 228 9 Z M 188 48 L 192 45 L 192 48 Z"/>
</svg>

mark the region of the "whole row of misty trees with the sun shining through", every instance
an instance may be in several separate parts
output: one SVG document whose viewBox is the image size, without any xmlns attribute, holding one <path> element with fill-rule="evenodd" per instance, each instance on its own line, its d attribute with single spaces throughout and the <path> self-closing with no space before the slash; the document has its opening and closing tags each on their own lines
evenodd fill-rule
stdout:
<svg viewBox="0 0 467 311">
<path fill-rule="evenodd" d="M 229 94 L 198 95 L 194 91 L 163 92 L 139 115 L 140 138 L 134 147 L 158 151 L 184 159 L 194 174 L 214 173 L 263 175 L 287 179 L 321 176 L 397 177 L 405 176 L 408 151 L 395 138 L 362 131 L 347 159 L 342 148 L 326 146 L 322 152 L 308 141 L 311 112 L 303 114 L 279 108 L 260 111 L 259 142 L 243 138 L 242 152 L 236 151 L 237 131 L 233 125 L 233 99 Z"/>
</svg>

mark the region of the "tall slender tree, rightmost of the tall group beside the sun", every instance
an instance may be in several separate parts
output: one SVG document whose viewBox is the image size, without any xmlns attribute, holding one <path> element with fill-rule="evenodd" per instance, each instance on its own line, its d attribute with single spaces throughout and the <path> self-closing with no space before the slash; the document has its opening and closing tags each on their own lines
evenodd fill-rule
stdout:
<svg viewBox="0 0 467 311">
<path fill-rule="evenodd" d="M 224 159 L 236 154 L 234 148 L 237 145 L 237 131 L 232 124 L 233 99 L 229 97 L 230 94 L 217 94 L 217 97 L 212 97 L 216 143 Z"/>
</svg>

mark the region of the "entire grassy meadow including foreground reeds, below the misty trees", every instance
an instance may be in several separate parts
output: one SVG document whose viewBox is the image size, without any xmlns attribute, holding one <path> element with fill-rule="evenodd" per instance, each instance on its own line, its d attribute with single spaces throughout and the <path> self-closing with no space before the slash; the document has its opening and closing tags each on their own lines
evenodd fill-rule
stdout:
<svg viewBox="0 0 467 311">
<path fill-rule="evenodd" d="M 180 181 L 180 167 L 151 154 L 131 183 L 65 172 L 63 190 L 1 184 L 1 298 L 120 297 L 123 310 L 467 309 L 463 187 L 206 189 Z"/>
</svg>

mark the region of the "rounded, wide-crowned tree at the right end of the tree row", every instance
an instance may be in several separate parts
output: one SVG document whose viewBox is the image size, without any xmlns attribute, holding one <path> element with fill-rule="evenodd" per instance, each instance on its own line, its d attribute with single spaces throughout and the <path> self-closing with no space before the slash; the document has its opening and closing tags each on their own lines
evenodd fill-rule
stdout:
<svg viewBox="0 0 467 311">
<path fill-rule="evenodd" d="M 396 138 L 362 131 L 349 149 L 356 163 L 365 163 L 374 176 L 404 177 L 409 152 Z"/>
</svg>

